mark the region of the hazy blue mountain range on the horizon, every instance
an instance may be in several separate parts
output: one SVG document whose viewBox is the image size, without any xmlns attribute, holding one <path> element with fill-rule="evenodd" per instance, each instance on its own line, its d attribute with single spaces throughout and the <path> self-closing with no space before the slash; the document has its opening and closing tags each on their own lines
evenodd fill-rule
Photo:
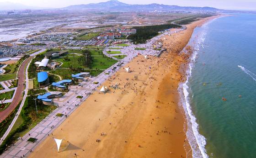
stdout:
<svg viewBox="0 0 256 158">
<path fill-rule="evenodd" d="M 177 5 L 160 5 L 160 4 L 149 4 L 149 5 L 128 5 L 118 0 L 110 0 L 101 3 L 91 3 L 87 5 L 70 5 L 65 10 L 99 10 L 99 11 L 203 11 L 203 12 L 216 12 L 219 9 L 212 7 L 182 7 Z"/>
</svg>

